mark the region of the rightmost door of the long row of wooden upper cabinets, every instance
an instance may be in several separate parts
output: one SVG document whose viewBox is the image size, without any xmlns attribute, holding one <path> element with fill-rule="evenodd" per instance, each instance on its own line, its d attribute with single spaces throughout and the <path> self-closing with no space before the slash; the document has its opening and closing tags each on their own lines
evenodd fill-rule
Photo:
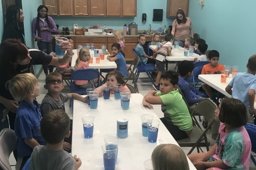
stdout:
<svg viewBox="0 0 256 170">
<path fill-rule="evenodd" d="M 137 15 L 137 0 L 122 0 L 122 16 Z"/>
</svg>

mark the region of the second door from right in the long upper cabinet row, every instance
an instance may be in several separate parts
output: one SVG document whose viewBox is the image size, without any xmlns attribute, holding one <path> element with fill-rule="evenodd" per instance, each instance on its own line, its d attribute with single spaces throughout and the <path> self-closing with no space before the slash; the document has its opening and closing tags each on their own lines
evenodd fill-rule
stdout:
<svg viewBox="0 0 256 170">
<path fill-rule="evenodd" d="M 106 0 L 107 16 L 121 16 L 121 0 Z"/>
</svg>

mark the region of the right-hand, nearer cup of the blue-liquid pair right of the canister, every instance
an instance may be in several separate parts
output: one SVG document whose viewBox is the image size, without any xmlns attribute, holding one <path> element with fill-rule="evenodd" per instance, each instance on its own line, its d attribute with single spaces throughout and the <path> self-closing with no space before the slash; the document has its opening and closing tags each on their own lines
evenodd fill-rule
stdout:
<svg viewBox="0 0 256 170">
<path fill-rule="evenodd" d="M 158 128 L 160 121 L 157 119 L 149 119 L 148 123 L 148 142 L 157 142 Z"/>
</svg>

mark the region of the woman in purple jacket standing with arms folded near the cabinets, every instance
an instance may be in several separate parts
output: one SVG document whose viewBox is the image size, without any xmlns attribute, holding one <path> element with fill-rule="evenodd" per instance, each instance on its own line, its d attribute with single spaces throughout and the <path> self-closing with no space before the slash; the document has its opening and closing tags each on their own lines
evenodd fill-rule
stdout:
<svg viewBox="0 0 256 170">
<path fill-rule="evenodd" d="M 37 41 L 38 48 L 46 54 L 52 52 L 52 32 L 58 32 L 52 17 L 48 17 L 48 8 L 44 5 L 38 7 L 38 16 L 32 21 L 32 35 Z M 43 65 L 44 73 L 48 74 L 47 65 Z M 53 65 L 49 66 L 49 72 L 53 71 Z"/>
</svg>

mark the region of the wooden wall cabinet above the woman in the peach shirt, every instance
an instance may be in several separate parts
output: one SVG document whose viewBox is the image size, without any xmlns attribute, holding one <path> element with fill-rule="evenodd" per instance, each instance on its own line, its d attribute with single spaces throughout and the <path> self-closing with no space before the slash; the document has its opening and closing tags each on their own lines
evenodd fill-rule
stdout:
<svg viewBox="0 0 256 170">
<path fill-rule="evenodd" d="M 185 15 L 188 16 L 189 0 L 167 0 L 166 17 L 176 17 L 179 8 L 181 8 Z"/>
</svg>

